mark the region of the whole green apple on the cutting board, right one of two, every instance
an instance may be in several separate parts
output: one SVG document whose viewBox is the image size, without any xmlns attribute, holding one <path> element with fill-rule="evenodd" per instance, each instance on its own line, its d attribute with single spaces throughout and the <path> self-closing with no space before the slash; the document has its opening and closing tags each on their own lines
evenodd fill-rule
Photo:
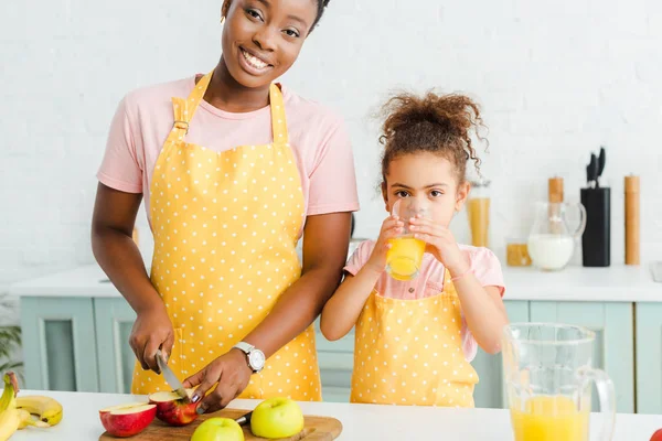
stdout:
<svg viewBox="0 0 662 441">
<path fill-rule="evenodd" d="M 303 430 L 303 412 L 289 398 L 269 398 L 257 405 L 250 417 L 250 431 L 261 438 L 289 438 Z"/>
</svg>

